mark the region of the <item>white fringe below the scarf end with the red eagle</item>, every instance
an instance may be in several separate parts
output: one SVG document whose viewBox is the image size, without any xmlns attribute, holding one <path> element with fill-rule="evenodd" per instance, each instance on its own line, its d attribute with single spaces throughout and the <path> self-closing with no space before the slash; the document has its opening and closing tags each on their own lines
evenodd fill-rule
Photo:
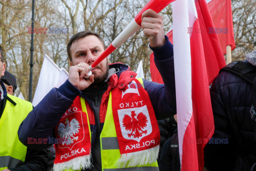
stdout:
<svg viewBox="0 0 256 171">
<path fill-rule="evenodd" d="M 121 158 L 118 159 L 116 166 L 118 168 L 124 168 L 153 164 L 158 157 L 158 152 L 159 145 L 147 150 L 122 154 Z"/>
</svg>

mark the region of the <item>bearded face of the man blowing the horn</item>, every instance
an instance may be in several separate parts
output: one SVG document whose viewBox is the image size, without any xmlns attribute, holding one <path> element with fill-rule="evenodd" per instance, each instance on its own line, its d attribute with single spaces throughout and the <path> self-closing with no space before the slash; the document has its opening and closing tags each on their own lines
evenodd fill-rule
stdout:
<svg viewBox="0 0 256 171">
<path fill-rule="evenodd" d="M 96 36 L 90 35 L 81 38 L 70 47 L 72 56 L 70 66 L 76 66 L 80 62 L 91 65 L 103 51 L 103 44 Z M 108 59 L 106 58 L 92 70 L 94 75 L 94 83 L 92 85 L 98 85 L 103 82 L 108 75 L 108 69 Z"/>
</svg>

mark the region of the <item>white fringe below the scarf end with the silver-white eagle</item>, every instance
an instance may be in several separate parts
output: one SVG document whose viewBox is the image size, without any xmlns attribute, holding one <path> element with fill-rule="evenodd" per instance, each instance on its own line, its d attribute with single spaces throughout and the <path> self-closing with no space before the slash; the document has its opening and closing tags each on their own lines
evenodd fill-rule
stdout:
<svg viewBox="0 0 256 171">
<path fill-rule="evenodd" d="M 81 170 L 81 169 L 90 169 L 91 167 L 92 167 L 92 164 L 91 164 L 91 151 L 90 151 L 90 155 L 81 156 L 66 162 L 54 164 L 52 171 L 62 171 L 65 169 Z"/>
</svg>

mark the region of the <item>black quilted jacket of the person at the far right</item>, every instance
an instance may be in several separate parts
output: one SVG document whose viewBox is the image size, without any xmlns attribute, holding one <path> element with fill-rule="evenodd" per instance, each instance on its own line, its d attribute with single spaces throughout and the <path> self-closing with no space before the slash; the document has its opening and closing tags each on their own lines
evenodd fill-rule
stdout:
<svg viewBox="0 0 256 171">
<path fill-rule="evenodd" d="M 256 162 L 251 91 L 252 84 L 227 71 L 212 83 L 213 139 L 218 141 L 204 149 L 205 166 L 211 171 L 249 170 Z M 221 143 L 225 139 L 227 143 Z"/>
</svg>

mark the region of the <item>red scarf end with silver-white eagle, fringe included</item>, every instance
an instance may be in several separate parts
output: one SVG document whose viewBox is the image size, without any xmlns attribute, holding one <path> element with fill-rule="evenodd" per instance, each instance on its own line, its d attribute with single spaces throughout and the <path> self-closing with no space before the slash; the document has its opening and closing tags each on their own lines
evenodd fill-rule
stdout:
<svg viewBox="0 0 256 171">
<path fill-rule="evenodd" d="M 80 96 L 65 112 L 55 127 L 56 158 L 53 170 L 91 168 L 89 120 L 82 111 Z"/>
</svg>

